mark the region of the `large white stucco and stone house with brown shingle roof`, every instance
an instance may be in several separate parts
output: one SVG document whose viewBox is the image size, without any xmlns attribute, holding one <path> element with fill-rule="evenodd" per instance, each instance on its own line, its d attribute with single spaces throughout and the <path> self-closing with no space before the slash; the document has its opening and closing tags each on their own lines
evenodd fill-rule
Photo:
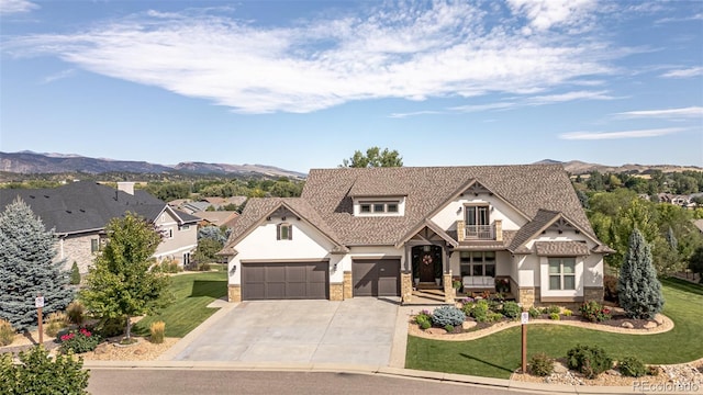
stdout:
<svg viewBox="0 0 703 395">
<path fill-rule="evenodd" d="M 560 165 L 313 169 L 301 198 L 250 199 L 221 251 L 232 302 L 410 302 L 414 281 L 453 302 L 456 278 L 523 306 L 602 301 L 610 252 Z"/>
</svg>

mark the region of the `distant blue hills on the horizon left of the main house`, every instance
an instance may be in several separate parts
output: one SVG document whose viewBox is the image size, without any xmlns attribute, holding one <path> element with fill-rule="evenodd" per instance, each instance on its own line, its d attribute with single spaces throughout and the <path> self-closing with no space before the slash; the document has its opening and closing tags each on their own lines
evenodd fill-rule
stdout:
<svg viewBox="0 0 703 395">
<path fill-rule="evenodd" d="M 79 155 L 38 154 L 32 151 L 0 153 L 0 171 L 34 174 L 85 172 L 100 174 L 108 172 L 131 173 L 194 173 L 194 174 L 237 174 L 305 178 L 305 173 L 280 169 L 266 165 L 225 165 L 205 162 L 181 162 L 175 166 L 157 165 L 146 161 L 113 160 L 89 158 Z"/>
</svg>

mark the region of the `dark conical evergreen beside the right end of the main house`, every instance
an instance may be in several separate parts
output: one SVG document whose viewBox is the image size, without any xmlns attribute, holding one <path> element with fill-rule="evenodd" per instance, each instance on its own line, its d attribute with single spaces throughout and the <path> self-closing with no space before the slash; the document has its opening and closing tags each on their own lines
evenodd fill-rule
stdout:
<svg viewBox="0 0 703 395">
<path fill-rule="evenodd" d="M 661 283 L 651 261 L 651 250 L 639 229 L 629 236 L 629 247 L 617 282 L 620 305 L 631 318 L 650 319 L 661 312 Z"/>
</svg>

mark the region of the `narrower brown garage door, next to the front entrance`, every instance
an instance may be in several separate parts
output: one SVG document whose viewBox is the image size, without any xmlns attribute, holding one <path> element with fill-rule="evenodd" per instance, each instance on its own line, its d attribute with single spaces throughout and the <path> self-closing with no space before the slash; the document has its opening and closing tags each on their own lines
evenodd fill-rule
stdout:
<svg viewBox="0 0 703 395">
<path fill-rule="evenodd" d="M 352 261 L 354 296 L 400 296 L 400 259 Z"/>
</svg>

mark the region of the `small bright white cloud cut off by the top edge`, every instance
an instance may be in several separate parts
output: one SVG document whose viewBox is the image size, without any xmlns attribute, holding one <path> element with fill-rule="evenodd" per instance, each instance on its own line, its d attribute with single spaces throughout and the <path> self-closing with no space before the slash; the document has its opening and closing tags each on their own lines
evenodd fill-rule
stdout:
<svg viewBox="0 0 703 395">
<path fill-rule="evenodd" d="M 529 26 L 524 34 L 533 30 L 546 31 L 553 26 L 588 26 L 588 16 L 596 7 L 595 0 L 507 0 L 515 14 L 523 14 Z"/>
</svg>

